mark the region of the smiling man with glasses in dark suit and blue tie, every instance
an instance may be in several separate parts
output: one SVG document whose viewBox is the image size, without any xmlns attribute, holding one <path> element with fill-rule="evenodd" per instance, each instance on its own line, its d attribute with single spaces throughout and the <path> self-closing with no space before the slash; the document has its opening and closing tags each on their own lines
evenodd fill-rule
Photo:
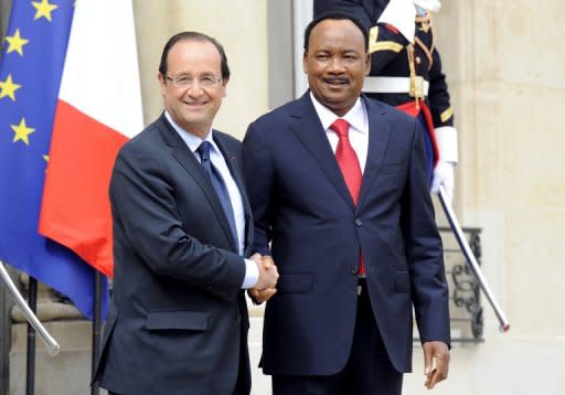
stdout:
<svg viewBox="0 0 565 395">
<path fill-rule="evenodd" d="M 214 39 L 172 36 L 159 66 L 166 110 L 116 160 L 114 295 L 95 376 L 110 394 L 249 394 L 243 289 L 273 288 L 278 274 L 243 257 L 242 146 L 212 130 L 228 78 Z"/>
</svg>

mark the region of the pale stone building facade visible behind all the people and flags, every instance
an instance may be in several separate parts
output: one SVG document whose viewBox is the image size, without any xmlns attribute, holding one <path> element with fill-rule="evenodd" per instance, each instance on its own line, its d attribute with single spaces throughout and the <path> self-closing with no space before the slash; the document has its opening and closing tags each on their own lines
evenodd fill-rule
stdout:
<svg viewBox="0 0 565 395">
<path fill-rule="evenodd" d="M 9 3 L 0 2 L 2 33 Z M 295 54 L 299 58 L 309 1 L 134 4 L 146 124 L 162 109 L 157 82 L 162 45 L 181 30 L 209 33 L 226 49 L 232 78 L 215 125 L 221 130 L 243 138 L 250 120 L 303 86 Z M 450 377 L 435 394 L 558 394 L 565 387 L 565 303 L 559 297 L 565 278 L 564 15 L 559 0 L 444 0 L 435 19 L 459 130 L 455 206 L 461 223 L 482 228 L 484 275 L 512 322 L 509 333 L 499 333 L 486 307 L 484 342 L 454 348 Z M 253 314 L 256 365 L 262 310 Z M 0 330 L 2 343 L 8 337 L 6 327 Z M 81 330 L 87 346 L 88 330 Z M 427 393 L 422 360 L 416 349 L 415 373 L 405 378 L 407 394 Z M 87 381 L 88 359 L 81 361 Z M 11 365 L 11 381 L 21 380 L 18 369 Z M 6 371 L 0 374 L 6 383 Z M 88 393 L 87 382 L 79 387 L 77 394 Z M 10 388 L 10 394 L 23 393 L 13 382 Z M 268 380 L 254 370 L 254 394 L 266 393 Z"/>
</svg>

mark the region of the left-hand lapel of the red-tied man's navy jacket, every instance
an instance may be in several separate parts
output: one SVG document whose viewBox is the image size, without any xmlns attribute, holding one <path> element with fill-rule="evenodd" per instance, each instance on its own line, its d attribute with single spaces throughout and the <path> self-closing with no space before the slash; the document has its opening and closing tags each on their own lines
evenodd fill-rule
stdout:
<svg viewBox="0 0 565 395">
<path fill-rule="evenodd" d="M 307 92 L 297 102 L 297 111 L 292 114 L 296 121 L 291 125 L 291 129 L 345 202 L 354 209 L 355 204 L 309 95 L 310 93 Z"/>
</svg>

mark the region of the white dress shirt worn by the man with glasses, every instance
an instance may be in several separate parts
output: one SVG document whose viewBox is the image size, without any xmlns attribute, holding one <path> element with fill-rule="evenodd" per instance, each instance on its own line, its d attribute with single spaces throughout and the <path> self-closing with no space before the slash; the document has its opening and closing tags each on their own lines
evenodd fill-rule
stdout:
<svg viewBox="0 0 565 395">
<path fill-rule="evenodd" d="M 222 174 L 225 186 L 227 189 L 227 193 L 230 194 L 230 201 L 234 210 L 235 227 L 237 231 L 237 249 L 239 255 L 243 256 L 245 249 L 245 212 L 243 209 L 242 194 L 239 193 L 239 189 L 237 188 L 237 184 L 235 183 L 235 180 L 230 172 L 230 168 L 227 167 L 225 158 L 222 156 L 222 151 L 220 151 L 220 148 L 212 138 L 212 130 L 210 130 L 206 138 L 203 140 L 200 137 L 185 131 L 179 125 L 177 125 L 169 113 L 164 111 L 164 116 L 182 138 L 182 140 L 190 148 L 191 152 L 194 154 L 199 162 L 200 154 L 196 152 L 196 150 L 199 149 L 202 141 L 206 140 L 212 145 L 212 149 L 210 150 L 210 161 L 217 169 L 217 171 L 220 171 L 220 174 Z M 252 288 L 257 282 L 257 279 L 259 278 L 259 270 L 257 265 L 250 259 L 245 259 L 245 278 L 242 288 L 246 289 Z"/>
</svg>

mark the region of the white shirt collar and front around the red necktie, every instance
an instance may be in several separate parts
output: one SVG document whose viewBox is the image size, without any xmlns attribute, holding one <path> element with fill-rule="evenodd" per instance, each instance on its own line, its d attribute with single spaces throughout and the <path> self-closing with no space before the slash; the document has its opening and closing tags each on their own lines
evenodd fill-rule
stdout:
<svg viewBox="0 0 565 395">
<path fill-rule="evenodd" d="M 343 117 L 338 117 L 331 109 L 323 106 L 316 99 L 316 97 L 313 97 L 311 92 L 310 98 L 312 99 L 313 108 L 320 118 L 323 130 L 326 130 L 326 135 L 328 136 L 328 140 L 330 141 L 333 153 L 335 153 L 335 149 L 338 148 L 338 142 L 340 139 L 338 134 L 330 129 L 330 126 L 338 118 L 348 121 L 350 125 L 349 141 L 358 156 L 361 173 L 363 173 L 365 170 L 366 154 L 369 150 L 369 117 L 366 115 L 365 105 L 361 100 L 361 97 L 358 98 L 353 107 Z"/>
</svg>

